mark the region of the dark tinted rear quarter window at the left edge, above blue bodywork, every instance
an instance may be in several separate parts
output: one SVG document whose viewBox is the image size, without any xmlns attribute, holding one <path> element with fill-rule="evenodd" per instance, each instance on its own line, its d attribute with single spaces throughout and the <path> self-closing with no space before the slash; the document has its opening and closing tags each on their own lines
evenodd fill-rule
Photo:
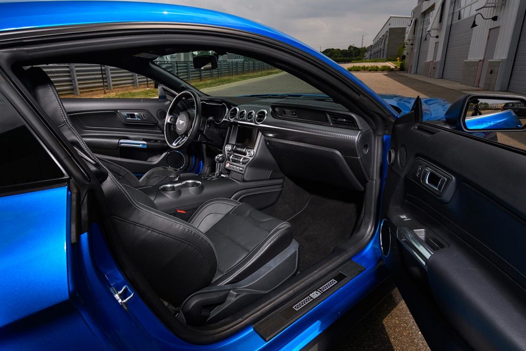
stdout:
<svg viewBox="0 0 526 351">
<path fill-rule="evenodd" d="M 0 194 L 64 173 L 0 95 Z"/>
</svg>

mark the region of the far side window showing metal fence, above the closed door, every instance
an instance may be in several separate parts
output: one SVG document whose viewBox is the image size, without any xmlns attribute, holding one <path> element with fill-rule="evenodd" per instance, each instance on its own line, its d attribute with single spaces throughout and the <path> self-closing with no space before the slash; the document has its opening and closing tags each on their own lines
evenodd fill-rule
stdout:
<svg viewBox="0 0 526 351">
<path fill-rule="evenodd" d="M 153 98 L 157 83 L 126 69 L 94 64 L 39 65 L 61 98 Z"/>
</svg>

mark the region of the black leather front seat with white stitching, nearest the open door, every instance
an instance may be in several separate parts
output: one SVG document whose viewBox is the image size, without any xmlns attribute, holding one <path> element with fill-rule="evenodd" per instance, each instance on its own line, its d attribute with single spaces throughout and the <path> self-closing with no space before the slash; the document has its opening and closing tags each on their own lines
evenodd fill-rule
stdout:
<svg viewBox="0 0 526 351">
<path fill-rule="evenodd" d="M 289 223 L 231 199 L 206 202 L 189 223 L 160 212 L 90 151 L 44 71 L 26 73 L 36 101 L 97 175 L 108 241 L 161 299 L 180 306 L 187 322 L 225 317 L 296 273 L 298 244 Z M 236 289 L 244 293 L 229 295 Z M 217 307 L 210 312 L 210 306 Z"/>
</svg>

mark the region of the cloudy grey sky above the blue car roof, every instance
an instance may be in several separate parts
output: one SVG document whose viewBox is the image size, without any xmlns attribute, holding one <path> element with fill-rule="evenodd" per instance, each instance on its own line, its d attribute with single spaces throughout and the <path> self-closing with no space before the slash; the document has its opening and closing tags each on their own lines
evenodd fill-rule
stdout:
<svg viewBox="0 0 526 351">
<path fill-rule="evenodd" d="M 155 2 L 154 0 L 149 0 Z M 369 46 L 390 15 L 410 16 L 417 0 L 161 0 L 226 12 L 274 27 L 321 50 Z"/>
</svg>

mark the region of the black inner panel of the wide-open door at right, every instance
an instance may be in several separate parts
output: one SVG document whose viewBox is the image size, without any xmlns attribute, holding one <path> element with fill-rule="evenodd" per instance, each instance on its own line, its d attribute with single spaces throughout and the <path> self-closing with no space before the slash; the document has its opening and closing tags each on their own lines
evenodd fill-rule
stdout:
<svg viewBox="0 0 526 351">
<path fill-rule="evenodd" d="M 380 245 L 431 349 L 526 349 L 526 155 L 400 117 Z"/>
</svg>

